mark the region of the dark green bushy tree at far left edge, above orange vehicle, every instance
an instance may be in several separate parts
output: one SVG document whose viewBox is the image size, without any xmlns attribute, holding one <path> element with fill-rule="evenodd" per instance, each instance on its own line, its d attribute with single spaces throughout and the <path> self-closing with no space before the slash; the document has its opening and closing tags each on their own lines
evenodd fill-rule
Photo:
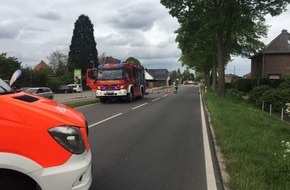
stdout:
<svg viewBox="0 0 290 190">
<path fill-rule="evenodd" d="M 12 74 L 20 69 L 21 62 L 15 57 L 7 57 L 7 53 L 0 54 L 0 78 L 10 80 Z"/>
</svg>

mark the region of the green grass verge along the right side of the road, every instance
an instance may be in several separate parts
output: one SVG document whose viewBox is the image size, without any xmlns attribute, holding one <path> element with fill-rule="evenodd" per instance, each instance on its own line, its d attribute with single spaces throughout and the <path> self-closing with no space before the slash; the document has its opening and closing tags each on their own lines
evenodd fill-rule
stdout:
<svg viewBox="0 0 290 190">
<path fill-rule="evenodd" d="M 258 110 L 245 100 L 226 94 L 204 94 L 217 145 L 230 176 L 226 186 L 236 190 L 290 189 L 290 125 Z M 286 156 L 286 157 L 285 157 Z"/>
</svg>

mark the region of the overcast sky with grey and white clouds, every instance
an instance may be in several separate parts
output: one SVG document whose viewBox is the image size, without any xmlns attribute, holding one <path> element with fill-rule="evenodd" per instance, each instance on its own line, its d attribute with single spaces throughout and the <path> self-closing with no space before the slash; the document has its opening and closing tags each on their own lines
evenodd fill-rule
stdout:
<svg viewBox="0 0 290 190">
<path fill-rule="evenodd" d="M 69 51 L 74 23 L 81 14 L 94 25 L 99 55 L 125 60 L 132 56 L 148 69 L 180 68 L 174 31 L 179 27 L 159 0 L 0 0 L 0 53 L 16 57 L 23 67 L 34 67 L 59 50 Z M 275 18 L 269 43 L 283 29 L 290 31 L 290 10 Z M 250 60 L 235 58 L 226 73 L 250 72 Z"/>
</svg>

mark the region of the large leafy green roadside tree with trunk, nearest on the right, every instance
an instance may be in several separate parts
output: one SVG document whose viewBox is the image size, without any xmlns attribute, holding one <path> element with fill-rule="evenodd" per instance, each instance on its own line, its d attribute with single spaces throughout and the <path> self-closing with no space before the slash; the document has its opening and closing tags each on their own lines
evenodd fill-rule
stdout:
<svg viewBox="0 0 290 190">
<path fill-rule="evenodd" d="M 224 95 L 224 70 L 227 60 L 231 55 L 247 56 L 262 48 L 264 44 L 259 40 L 266 36 L 267 31 L 264 16 L 279 15 L 285 11 L 289 2 L 290 0 L 161 0 L 170 9 L 169 13 L 181 23 L 181 27 L 186 26 L 186 31 L 188 27 L 191 28 L 186 36 L 195 31 L 193 39 L 210 39 L 217 48 L 214 52 L 218 63 L 220 96 Z M 205 47 L 205 43 L 194 45 Z"/>
</svg>

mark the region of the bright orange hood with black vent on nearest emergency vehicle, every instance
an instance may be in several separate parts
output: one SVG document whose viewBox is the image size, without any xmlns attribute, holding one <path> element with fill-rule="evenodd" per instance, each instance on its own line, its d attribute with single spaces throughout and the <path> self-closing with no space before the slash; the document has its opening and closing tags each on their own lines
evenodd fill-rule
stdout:
<svg viewBox="0 0 290 190">
<path fill-rule="evenodd" d="M 80 112 L 22 91 L 1 94 L 0 105 L 0 112 L 5 113 L 0 115 L 0 121 L 44 128 L 59 125 L 85 127 L 85 118 Z"/>
</svg>

